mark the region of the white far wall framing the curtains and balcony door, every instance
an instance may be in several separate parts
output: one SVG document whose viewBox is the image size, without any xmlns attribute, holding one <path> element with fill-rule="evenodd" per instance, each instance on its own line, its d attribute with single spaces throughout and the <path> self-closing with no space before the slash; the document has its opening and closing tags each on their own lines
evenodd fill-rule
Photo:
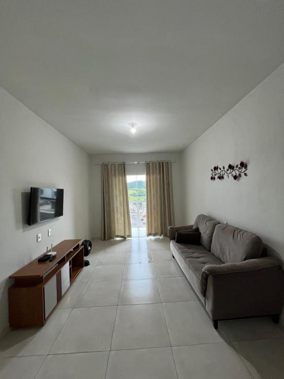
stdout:
<svg viewBox="0 0 284 379">
<path fill-rule="evenodd" d="M 115 142 L 114 142 L 115 143 Z M 93 235 L 95 238 L 101 236 L 102 222 L 102 167 L 96 163 L 102 162 L 145 162 L 149 160 L 172 160 L 173 196 L 175 223 L 183 222 L 181 202 L 181 153 L 139 153 L 139 154 L 94 154 L 91 156 L 91 196 L 93 215 Z M 144 164 L 126 165 L 127 175 L 145 174 Z"/>
</svg>

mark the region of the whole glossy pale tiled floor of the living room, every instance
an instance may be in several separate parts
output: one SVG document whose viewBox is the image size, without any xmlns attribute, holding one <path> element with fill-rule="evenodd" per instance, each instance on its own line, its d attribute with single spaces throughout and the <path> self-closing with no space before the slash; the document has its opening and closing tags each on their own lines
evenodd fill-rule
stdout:
<svg viewBox="0 0 284 379">
<path fill-rule="evenodd" d="M 93 241 L 42 328 L 0 341 L 0 379 L 283 379 L 284 333 L 269 318 L 215 331 L 167 238 Z"/>
</svg>

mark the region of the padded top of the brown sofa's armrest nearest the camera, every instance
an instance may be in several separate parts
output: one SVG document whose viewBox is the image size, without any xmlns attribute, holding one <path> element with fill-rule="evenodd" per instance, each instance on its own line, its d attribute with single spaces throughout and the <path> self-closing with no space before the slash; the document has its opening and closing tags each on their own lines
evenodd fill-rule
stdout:
<svg viewBox="0 0 284 379">
<path fill-rule="evenodd" d="M 281 265 L 282 261 L 274 257 L 255 258 L 239 263 L 225 263 L 223 265 L 206 265 L 202 270 L 201 293 L 203 296 L 206 295 L 209 276 L 229 276 L 230 281 L 232 281 L 234 277 L 240 278 L 242 275 L 263 275 L 265 272 L 271 275 Z"/>
</svg>

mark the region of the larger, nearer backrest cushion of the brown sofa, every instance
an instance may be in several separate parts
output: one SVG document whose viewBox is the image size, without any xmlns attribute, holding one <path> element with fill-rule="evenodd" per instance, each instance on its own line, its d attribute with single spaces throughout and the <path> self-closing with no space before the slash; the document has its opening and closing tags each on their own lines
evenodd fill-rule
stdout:
<svg viewBox="0 0 284 379">
<path fill-rule="evenodd" d="M 215 228 L 211 252 L 224 263 L 261 257 L 262 249 L 262 240 L 256 234 L 230 225 Z"/>
</svg>

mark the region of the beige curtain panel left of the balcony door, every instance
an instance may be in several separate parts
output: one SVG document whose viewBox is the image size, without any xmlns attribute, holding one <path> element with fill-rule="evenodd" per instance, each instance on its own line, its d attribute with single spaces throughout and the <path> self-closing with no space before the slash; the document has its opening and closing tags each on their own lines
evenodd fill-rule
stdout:
<svg viewBox="0 0 284 379">
<path fill-rule="evenodd" d="M 131 237 L 125 163 L 103 163 L 102 240 Z"/>
</svg>

